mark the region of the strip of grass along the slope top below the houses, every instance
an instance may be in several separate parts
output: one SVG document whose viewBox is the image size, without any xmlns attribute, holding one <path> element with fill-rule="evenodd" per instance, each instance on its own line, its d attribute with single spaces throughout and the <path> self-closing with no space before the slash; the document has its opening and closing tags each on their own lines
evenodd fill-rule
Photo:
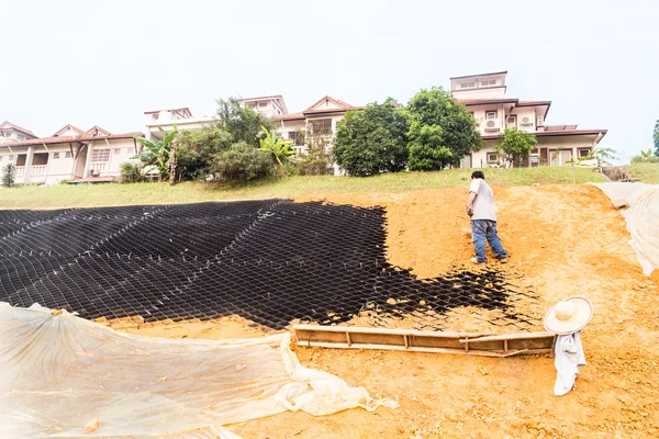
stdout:
<svg viewBox="0 0 659 439">
<path fill-rule="evenodd" d="M 325 193 L 395 193 L 427 188 L 465 188 L 471 169 L 437 172 L 384 173 L 369 178 L 286 177 L 235 187 L 222 183 L 185 182 L 133 184 L 58 184 L 53 187 L 0 188 L 0 209 L 91 207 L 126 204 L 192 203 L 214 200 L 289 198 Z M 485 169 L 493 187 L 572 184 L 603 178 L 591 169 L 538 167 Z"/>
</svg>

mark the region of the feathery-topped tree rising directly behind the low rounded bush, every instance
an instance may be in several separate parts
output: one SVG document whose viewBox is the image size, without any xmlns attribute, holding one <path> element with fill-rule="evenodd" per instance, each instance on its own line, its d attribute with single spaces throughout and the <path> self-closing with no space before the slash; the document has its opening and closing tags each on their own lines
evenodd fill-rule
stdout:
<svg viewBox="0 0 659 439">
<path fill-rule="evenodd" d="M 233 144 L 245 142 L 258 147 L 261 126 L 269 131 L 275 130 L 275 125 L 269 119 L 244 106 L 237 98 L 219 99 L 217 116 L 217 127 L 231 134 Z"/>
</svg>

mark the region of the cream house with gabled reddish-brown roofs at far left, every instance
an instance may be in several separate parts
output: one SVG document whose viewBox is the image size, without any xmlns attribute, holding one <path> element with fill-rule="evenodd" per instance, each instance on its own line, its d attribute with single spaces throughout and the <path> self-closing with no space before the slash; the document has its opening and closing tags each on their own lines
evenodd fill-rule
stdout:
<svg viewBox="0 0 659 439">
<path fill-rule="evenodd" d="M 4 126 L 4 124 L 2 125 Z M 4 128 L 2 128 L 4 130 Z M 22 130 L 22 128 L 16 128 Z M 133 135 L 112 134 L 98 125 L 87 131 L 65 125 L 49 137 L 36 137 L 0 145 L 0 166 L 13 162 L 16 183 L 55 184 L 63 180 L 113 181 L 121 164 L 141 150 Z"/>
</svg>

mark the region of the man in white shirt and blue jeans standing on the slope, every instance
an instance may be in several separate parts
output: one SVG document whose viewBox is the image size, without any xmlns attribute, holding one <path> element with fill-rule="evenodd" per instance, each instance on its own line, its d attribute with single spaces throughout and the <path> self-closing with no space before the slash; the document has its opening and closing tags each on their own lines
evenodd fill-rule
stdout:
<svg viewBox="0 0 659 439">
<path fill-rule="evenodd" d="M 502 263 L 507 262 L 507 251 L 503 248 L 501 239 L 496 236 L 496 207 L 494 207 L 494 194 L 482 171 L 471 175 L 469 185 L 469 198 L 467 199 L 467 213 L 471 217 L 471 233 L 476 257 L 471 258 L 473 263 L 487 263 L 485 239 L 492 248 L 494 257 Z"/>
</svg>

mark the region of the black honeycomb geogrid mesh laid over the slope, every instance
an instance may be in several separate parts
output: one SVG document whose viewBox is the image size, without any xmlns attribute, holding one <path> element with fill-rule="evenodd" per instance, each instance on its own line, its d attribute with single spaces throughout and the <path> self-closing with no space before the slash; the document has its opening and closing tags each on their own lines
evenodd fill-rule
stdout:
<svg viewBox="0 0 659 439">
<path fill-rule="evenodd" d="M 238 314 L 281 329 L 292 319 L 377 326 L 407 319 L 444 329 L 448 309 L 498 309 L 488 322 L 537 324 L 514 312 L 496 271 L 420 281 L 389 264 L 384 211 L 263 200 L 0 211 L 0 301 L 64 307 L 86 318 L 212 319 Z"/>
</svg>

